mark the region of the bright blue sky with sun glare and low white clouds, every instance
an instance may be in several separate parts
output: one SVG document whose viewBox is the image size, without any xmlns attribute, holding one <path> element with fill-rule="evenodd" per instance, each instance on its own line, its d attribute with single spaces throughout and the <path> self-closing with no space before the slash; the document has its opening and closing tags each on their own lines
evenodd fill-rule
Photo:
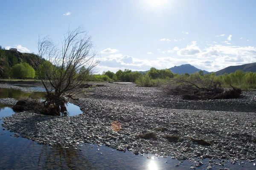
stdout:
<svg viewBox="0 0 256 170">
<path fill-rule="evenodd" d="M 255 0 L 12 0 L 0 2 L 0 45 L 38 53 L 79 26 L 96 70 L 146 71 L 191 64 L 206 71 L 256 62 Z"/>
</svg>

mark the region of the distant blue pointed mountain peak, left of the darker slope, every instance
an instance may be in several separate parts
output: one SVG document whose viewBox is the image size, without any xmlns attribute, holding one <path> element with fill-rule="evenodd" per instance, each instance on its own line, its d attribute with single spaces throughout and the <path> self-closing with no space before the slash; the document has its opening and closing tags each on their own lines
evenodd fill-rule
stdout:
<svg viewBox="0 0 256 170">
<path fill-rule="evenodd" d="M 198 71 L 202 71 L 196 67 L 194 67 L 193 65 L 190 65 L 190 64 L 183 64 L 183 65 L 180 65 L 180 66 L 174 66 L 172 68 L 170 68 L 170 70 L 175 73 L 175 74 L 185 74 L 185 73 L 188 73 L 188 74 L 192 74 L 192 73 L 195 73 L 195 72 L 198 72 Z M 204 71 L 204 74 L 208 74 L 209 72 L 208 71 Z"/>
</svg>

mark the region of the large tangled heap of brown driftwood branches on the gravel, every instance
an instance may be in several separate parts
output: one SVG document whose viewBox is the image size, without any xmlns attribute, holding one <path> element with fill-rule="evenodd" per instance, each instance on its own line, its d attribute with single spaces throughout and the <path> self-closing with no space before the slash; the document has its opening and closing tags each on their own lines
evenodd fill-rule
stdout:
<svg viewBox="0 0 256 170">
<path fill-rule="evenodd" d="M 167 94 L 179 95 L 181 99 L 186 100 L 234 99 L 240 97 L 241 89 L 232 85 L 230 87 L 232 89 L 224 89 L 220 82 L 213 82 L 212 80 L 203 85 L 197 85 L 187 80 L 175 80 L 166 84 L 163 90 Z"/>
</svg>

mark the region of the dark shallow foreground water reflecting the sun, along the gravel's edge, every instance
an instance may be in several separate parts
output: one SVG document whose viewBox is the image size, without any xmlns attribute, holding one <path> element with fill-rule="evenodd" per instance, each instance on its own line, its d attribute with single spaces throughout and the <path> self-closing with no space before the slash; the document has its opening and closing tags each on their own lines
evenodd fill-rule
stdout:
<svg viewBox="0 0 256 170">
<path fill-rule="evenodd" d="M 0 117 L 14 114 L 11 108 L 0 109 Z M 0 124 L 3 121 L 0 120 Z M 151 154 L 144 156 L 134 155 L 130 151 L 121 152 L 116 149 L 97 146 L 95 144 L 83 144 L 81 151 L 74 148 L 62 148 L 60 146 L 40 145 L 32 140 L 15 137 L 15 133 L 3 130 L 0 127 L 0 169 L 83 169 L 83 170 L 189 170 L 193 162 L 188 160 L 175 167 L 180 161 L 167 158 L 154 157 Z M 151 159 L 147 159 L 151 156 Z M 167 161 L 167 162 L 166 162 Z M 198 170 L 206 170 L 209 159 L 204 159 L 204 165 L 197 167 Z M 215 160 L 216 162 L 220 162 Z M 253 170 L 253 163 L 244 163 L 243 167 L 238 163 L 233 165 L 226 163 L 231 170 Z M 213 170 L 223 168 L 215 165 Z"/>
</svg>

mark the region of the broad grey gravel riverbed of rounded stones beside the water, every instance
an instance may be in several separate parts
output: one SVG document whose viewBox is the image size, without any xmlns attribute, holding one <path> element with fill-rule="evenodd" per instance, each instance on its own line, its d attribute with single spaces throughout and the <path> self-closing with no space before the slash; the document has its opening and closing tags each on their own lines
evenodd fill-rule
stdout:
<svg viewBox="0 0 256 170">
<path fill-rule="evenodd" d="M 82 143 L 105 144 L 178 160 L 256 159 L 254 91 L 239 99 L 187 101 L 160 88 L 105 85 L 84 89 L 85 95 L 73 101 L 83 114 L 53 117 L 26 111 L 6 117 L 3 126 L 38 144 L 78 149 Z M 111 128 L 113 122 L 122 125 L 120 130 Z M 144 139 L 145 134 L 150 135 Z"/>
</svg>

